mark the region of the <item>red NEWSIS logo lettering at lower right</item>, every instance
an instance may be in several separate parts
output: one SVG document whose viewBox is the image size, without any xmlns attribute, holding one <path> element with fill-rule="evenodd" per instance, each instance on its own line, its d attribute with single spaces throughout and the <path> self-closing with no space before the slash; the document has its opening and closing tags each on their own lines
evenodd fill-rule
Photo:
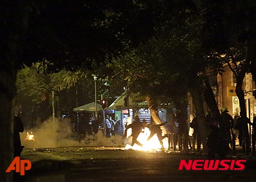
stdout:
<svg viewBox="0 0 256 182">
<path fill-rule="evenodd" d="M 246 160 L 181 160 L 179 170 L 243 170 Z"/>
</svg>

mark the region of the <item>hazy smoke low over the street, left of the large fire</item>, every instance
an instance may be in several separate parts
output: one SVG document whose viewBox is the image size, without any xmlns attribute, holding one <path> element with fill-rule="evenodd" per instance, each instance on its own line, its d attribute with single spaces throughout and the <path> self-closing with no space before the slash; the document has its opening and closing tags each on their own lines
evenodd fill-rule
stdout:
<svg viewBox="0 0 256 182">
<path fill-rule="evenodd" d="M 70 119 L 57 119 L 54 122 L 52 118 L 44 121 L 32 129 L 24 129 L 20 133 L 22 145 L 25 149 L 31 148 L 54 148 L 70 146 L 89 146 L 89 147 L 125 147 L 121 135 L 115 135 L 106 138 L 102 131 L 94 135 L 87 135 L 84 140 L 79 142 L 77 134 L 72 131 Z M 34 141 L 26 139 L 27 132 L 33 132 Z"/>
</svg>

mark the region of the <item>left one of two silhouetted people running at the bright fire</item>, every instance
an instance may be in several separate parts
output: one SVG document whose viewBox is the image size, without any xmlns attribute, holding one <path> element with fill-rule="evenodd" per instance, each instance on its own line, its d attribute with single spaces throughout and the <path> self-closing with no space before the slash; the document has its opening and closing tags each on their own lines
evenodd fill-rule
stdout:
<svg viewBox="0 0 256 182">
<path fill-rule="evenodd" d="M 134 144 L 137 144 L 139 146 L 143 146 L 139 141 L 137 141 L 137 138 L 139 137 L 139 134 L 141 133 L 141 130 L 143 127 L 142 122 L 140 121 L 139 116 L 135 115 L 134 120 L 132 122 L 132 124 L 127 125 L 126 129 L 131 128 L 132 129 L 132 142 L 131 142 L 131 146 L 133 146 Z"/>
</svg>

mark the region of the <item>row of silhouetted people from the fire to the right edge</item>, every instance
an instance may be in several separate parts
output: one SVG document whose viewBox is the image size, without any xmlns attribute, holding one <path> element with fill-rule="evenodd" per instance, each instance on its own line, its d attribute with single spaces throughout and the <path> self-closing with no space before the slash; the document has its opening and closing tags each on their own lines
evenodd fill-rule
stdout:
<svg viewBox="0 0 256 182">
<path fill-rule="evenodd" d="M 159 142 L 163 146 L 163 139 L 168 137 L 169 147 L 170 143 L 172 142 L 173 149 L 179 150 L 188 150 L 195 147 L 192 145 L 190 140 L 191 137 L 189 136 L 189 127 L 193 128 L 193 135 L 192 138 L 196 141 L 196 150 L 200 151 L 202 146 L 206 147 L 209 158 L 215 158 L 216 156 L 222 158 L 225 157 L 230 151 L 235 149 L 235 141 L 239 140 L 239 146 L 245 150 L 245 146 L 249 145 L 247 137 L 248 135 L 248 124 L 252 125 L 252 138 L 255 138 L 255 124 L 256 124 L 256 117 L 253 120 L 253 123 L 247 117 L 240 117 L 237 114 L 234 118 L 229 114 L 229 111 L 226 107 L 222 107 L 220 109 L 220 116 L 212 117 L 210 111 L 206 113 L 204 117 L 205 123 L 203 125 L 204 128 L 200 128 L 198 118 L 194 116 L 192 122 L 188 124 L 187 117 L 182 113 L 181 110 L 177 109 L 174 112 L 175 117 L 173 118 L 172 123 L 162 123 L 159 125 L 156 124 L 147 124 L 145 121 L 141 122 L 137 115 L 134 116 L 134 120 L 132 124 L 127 125 L 126 129 L 132 129 L 132 143 L 131 146 L 137 144 L 139 146 L 143 146 L 139 141 L 137 141 L 137 137 L 139 136 L 141 129 L 144 127 L 148 127 L 150 130 L 150 135 L 147 139 L 149 141 L 154 134 L 156 134 Z M 161 126 L 166 125 L 167 134 L 162 135 Z M 202 132 L 201 129 L 205 130 L 206 134 L 206 141 L 205 146 L 204 141 L 202 139 Z M 172 141 L 170 140 L 172 138 Z M 256 141 L 253 140 L 255 145 Z M 178 147 L 178 148 L 176 148 Z"/>
</svg>

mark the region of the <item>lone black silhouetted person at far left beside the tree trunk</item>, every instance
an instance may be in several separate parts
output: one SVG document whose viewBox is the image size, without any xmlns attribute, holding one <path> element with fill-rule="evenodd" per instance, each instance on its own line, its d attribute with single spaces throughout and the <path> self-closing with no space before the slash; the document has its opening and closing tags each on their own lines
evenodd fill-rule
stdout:
<svg viewBox="0 0 256 182">
<path fill-rule="evenodd" d="M 19 132 L 24 131 L 24 126 L 21 118 L 14 116 L 14 137 L 13 137 L 13 146 L 14 146 L 14 156 L 21 156 L 23 146 L 21 144 L 21 137 Z"/>
</svg>

